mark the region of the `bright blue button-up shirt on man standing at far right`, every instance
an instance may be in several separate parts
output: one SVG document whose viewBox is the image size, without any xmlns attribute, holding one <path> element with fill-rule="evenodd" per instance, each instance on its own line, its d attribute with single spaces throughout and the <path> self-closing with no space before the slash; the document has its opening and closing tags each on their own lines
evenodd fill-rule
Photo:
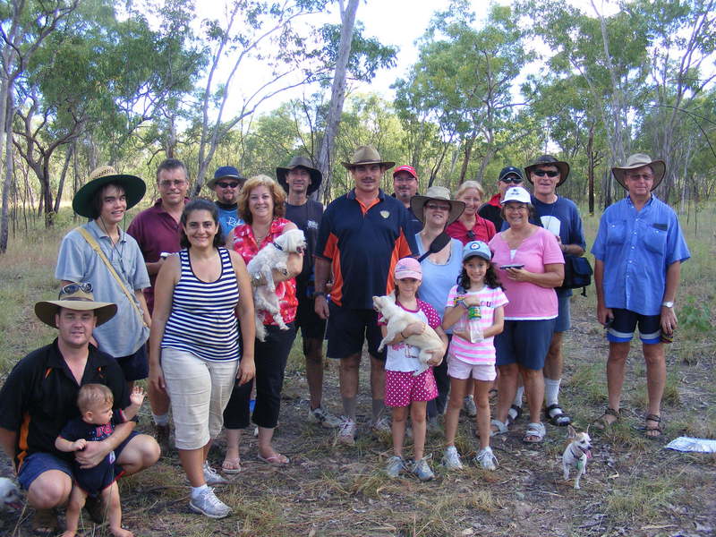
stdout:
<svg viewBox="0 0 716 537">
<path fill-rule="evenodd" d="M 628 196 L 601 215 L 592 254 L 604 263 L 604 305 L 659 315 L 669 265 L 686 261 L 676 213 L 653 194 L 637 212 Z"/>
</svg>

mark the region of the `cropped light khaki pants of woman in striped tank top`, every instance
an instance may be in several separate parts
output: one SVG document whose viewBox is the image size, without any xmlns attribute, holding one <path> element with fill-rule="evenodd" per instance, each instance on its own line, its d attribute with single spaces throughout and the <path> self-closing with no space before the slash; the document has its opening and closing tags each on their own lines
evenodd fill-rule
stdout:
<svg viewBox="0 0 716 537">
<path fill-rule="evenodd" d="M 199 449 L 224 426 L 238 360 L 207 362 L 187 351 L 162 349 L 166 393 L 172 402 L 177 449 Z"/>
</svg>

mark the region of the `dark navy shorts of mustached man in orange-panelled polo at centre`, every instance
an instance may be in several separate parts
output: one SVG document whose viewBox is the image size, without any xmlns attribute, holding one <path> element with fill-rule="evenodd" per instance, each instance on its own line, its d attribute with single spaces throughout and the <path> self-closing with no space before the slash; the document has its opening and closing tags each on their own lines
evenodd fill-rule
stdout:
<svg viewBox="0 0 716 537">
<path fill-rule="evenodd" d="M 374 310 L 351 310 L 328 305 L 328 358 L 347 358 L 361 354 L 363 341 L 368 340 L 368 352 L 373 358 L 386 360 L 386 351 L 378 352 L 383 335 L 378 326 L 378 313 Z"/>
</svg>

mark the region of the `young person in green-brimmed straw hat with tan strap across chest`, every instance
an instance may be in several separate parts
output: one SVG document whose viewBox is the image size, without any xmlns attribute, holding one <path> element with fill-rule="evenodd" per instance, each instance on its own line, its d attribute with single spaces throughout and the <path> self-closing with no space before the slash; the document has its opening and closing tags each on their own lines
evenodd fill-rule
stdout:
<svg viewBox="0 0 716 537">
<path fill-rule="evenodd" d="M 117 305 L 116 315 L 93 337 L 100 351 L 117 360 L 130 385 L 148 373 L 150 320 L 142 289 L 149 287 L 149 274 L 139 245 L 120 224 L 145 190 L 139 177 L 117 174 L 111 166 L 92 171 L 72 200 L 75 212 L 90 221 L 64 236 L 55 268 L 63 285 L 89 282 L 99 301 Z"/>
</svg>

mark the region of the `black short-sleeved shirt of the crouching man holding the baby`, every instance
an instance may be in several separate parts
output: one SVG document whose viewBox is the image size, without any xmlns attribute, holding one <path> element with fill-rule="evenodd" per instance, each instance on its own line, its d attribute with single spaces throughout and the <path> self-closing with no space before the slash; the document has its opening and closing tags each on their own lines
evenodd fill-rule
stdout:
<svg viewBox="0 0 716 537">
<path fill-rule="evenodd" d="M 104 384 L 115 396 L 114 408 L 126 408 L 129 391 L 124 373 L 109 354 L 90 345 L 81 384 Z M 80 386 L 60 353 L 57 340 L 17 362 L 0 390 L 0 427 L 17 432 L 15 468 L 32 453 L 52 453 L 68 461 L 72 453 L 55 449 L 62 428 L 80 415 Z"/>
</svg>

